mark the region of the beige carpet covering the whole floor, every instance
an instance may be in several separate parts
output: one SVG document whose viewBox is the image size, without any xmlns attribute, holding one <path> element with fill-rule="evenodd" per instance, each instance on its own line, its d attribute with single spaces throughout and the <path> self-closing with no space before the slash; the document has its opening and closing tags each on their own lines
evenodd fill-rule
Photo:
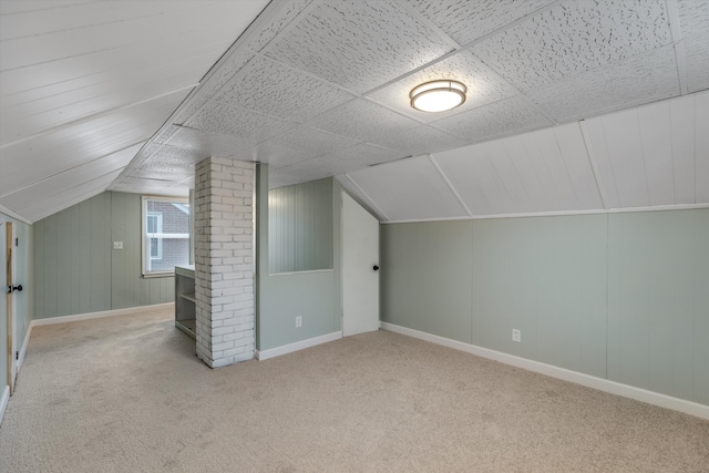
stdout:
<svg viewBox="0 0 709 473">
<path fill-rule="evenodd" d="M 171 315 L 37 327 L 2 472 L 709 472 L 709 421 L 379 331 L 210 370 Z"/>
</svg>

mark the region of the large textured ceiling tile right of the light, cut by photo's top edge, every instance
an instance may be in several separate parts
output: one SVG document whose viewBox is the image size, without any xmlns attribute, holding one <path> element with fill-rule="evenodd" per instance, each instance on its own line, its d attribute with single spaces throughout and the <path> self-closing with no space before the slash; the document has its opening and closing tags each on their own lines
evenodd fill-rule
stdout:
<svg viewBox="0 0 709 473">
<path fill-rule="evenodd" d="M 665 2 L 571 1 L 472 51 L 525 92 L 670 42 Z"/>
</svg>

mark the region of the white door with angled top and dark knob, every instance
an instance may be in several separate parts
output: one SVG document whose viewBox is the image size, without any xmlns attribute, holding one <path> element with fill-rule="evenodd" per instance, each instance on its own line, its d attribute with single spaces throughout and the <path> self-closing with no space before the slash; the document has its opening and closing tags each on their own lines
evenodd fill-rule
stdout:
<svg viewBox="0 0 709 473">
<path fill-rule="evenodd" d="M 342 336 L 379 329 L 379 220 L 342 192 Z"/>
</svg>

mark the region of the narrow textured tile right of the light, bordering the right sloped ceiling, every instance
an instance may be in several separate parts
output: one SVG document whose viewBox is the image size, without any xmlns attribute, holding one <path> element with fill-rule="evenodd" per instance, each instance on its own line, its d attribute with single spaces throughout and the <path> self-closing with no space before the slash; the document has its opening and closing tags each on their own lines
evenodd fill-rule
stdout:
<svg viewBox="0 0 709 473">
<path fill-rule="evenodd" d="M 675 95 L 679 79 L 671 44 L 527 93 L 559 122 Z"/>
</svg>

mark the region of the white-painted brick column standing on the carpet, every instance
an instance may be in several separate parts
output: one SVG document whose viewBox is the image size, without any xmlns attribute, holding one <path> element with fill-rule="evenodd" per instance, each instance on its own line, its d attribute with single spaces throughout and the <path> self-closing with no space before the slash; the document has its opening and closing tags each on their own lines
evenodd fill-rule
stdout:
<svg viewBox="0 0 709 473">
<path fill-rule="evenodd" d="M 195 166 L 197 357 L 212 368 L 254 358 L 254 164 Z"/>
</svg>

